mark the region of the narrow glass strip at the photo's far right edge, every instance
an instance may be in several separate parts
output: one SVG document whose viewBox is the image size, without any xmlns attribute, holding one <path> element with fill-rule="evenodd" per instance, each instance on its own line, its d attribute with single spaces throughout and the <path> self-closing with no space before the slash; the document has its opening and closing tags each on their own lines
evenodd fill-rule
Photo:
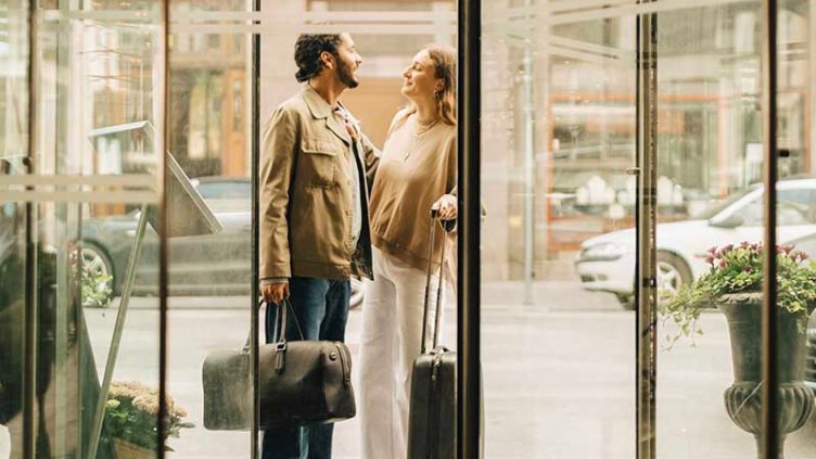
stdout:
<svg viewBox="0 0 816 459">
<path fill-rule="evenodd" d="M 812 119 L 816 9 L 809 1 L 778 2 L 777 43 L 777 186 L 776 237 L 779 283 L 778 419 L 787 457 L 816 456 L 816 418 L 812 416 L 816 388 L 816 162 Z M 808 112 L 809 111 L 809 112 Z M 807 323 L 811 316 L 811 322 Z M 798 323 L 800 322 L 800 323 Z M 809 419 L 807 415 L 811 413 Z"/>
</svg>

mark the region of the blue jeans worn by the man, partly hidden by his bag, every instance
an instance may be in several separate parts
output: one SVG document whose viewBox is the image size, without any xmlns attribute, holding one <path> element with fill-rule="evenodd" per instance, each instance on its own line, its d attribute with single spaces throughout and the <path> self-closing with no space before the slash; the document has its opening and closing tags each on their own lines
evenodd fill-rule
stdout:
<svg viewBox="0 0 816 459">
<path fill-rule="evenodd" d="M 306 340 L 345 341 L 352 284 L 346 280 L 292 278 L 292 306 Z M 278 307 L 266 309 L 266 342 L 276 341 Z M 286 340 L 299 340 L 291 316 Z M 263 410 L 264 407 L 262 406 Z M 264 431 L 262 459 L 330 459 L 333 424 L 281 428 Z"/>
</svg>

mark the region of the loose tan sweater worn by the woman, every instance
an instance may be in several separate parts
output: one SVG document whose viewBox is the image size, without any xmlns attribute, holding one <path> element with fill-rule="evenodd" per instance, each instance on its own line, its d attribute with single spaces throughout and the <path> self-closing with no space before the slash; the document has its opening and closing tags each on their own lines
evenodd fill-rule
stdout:
<svg viewBox="0 0 816 459">
<path fill-rule="evenodd" d="M 371 189 L 371 243 L 425 270 L 431 206 L 456 187 L 456 126 L 439 120 L 417 135 L 416 116 L 404 111 L 392 122 Z M 435 230 L 436 268 L 446 238 Z"/>
</svg>

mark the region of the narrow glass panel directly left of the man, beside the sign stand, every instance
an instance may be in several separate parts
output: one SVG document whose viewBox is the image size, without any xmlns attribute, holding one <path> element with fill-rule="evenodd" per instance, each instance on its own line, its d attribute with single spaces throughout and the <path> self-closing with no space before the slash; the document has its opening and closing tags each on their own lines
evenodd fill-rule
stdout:
<svg viewBox="0 0 816 459">
<path fill-rule="evenodd" d="M 240 353 L 256 307 L 251 256 L 251 35 L 238 22 L 219 31 L 194 22 L 234 17 L 251 4 L 171 2 L 169 151 L 199 201 L 199 225 L 190 231 L 171 230 L 168 239 L 168 391 L 191 422 L 171 441 L 178 457 L 248 458 L 252 447 L 252 411 L 218 405 L 221 391 L 250 401 L 252 387 L 248 354 Z M 189 204 L 183 194 L 181 188 L 169 189 L 171 214 Z M 216 224 L 207 225 L 207 218 Z M 246 366 L 233 367 L 230 380 L 213 380 L 209 369 L 227 364 L 227 355 Z M 247 392 L 242 394 L 240 387 Z"/>
</svg>

